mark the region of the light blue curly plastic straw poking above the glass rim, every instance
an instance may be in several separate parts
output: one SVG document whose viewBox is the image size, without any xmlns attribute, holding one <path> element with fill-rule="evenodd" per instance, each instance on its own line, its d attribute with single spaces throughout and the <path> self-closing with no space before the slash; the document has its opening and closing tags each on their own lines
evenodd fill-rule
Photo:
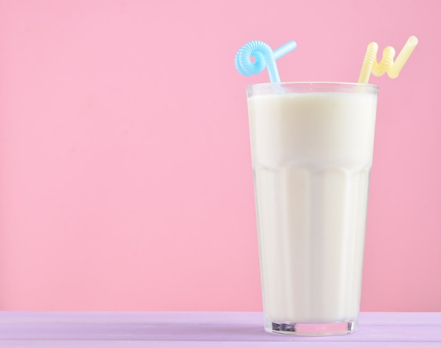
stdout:
<svg viewBox="0 0 441 348">
<path fill-rule="evenodd" d="M 280 82 L 275 60 L 296 48 L 297 44 L 294 41 L 287 42 L 274 51 L 265 42 L 250 41 L 237 51 L 236 69 L 244 76 L 251 76 L 261 73 L 266 67 L 270 81 Z M 251 56 L 254 57 L 254 62 L 251 61 Z"/>
</svg>

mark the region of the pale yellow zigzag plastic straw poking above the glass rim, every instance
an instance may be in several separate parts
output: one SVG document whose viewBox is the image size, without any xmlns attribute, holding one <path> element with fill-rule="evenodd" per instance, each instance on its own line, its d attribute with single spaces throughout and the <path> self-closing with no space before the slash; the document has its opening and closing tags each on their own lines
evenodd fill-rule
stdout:
<svg viewBox="0 0 441 348">
<path fill-rule="evenodd" d="M 387 73 L 390 78 L 397 77 L 412 51 L 414 51 L 416 44 L 418 44 L 418 39 L 414 36 L 409 37 L 395 62 L 395 49 L 391 46 L 387 46 L 383 51 L 383 57 L 380 63 L 377 62 L 378 44 L 376 42 L 368 44 L 363 65 L 361 66 L 359 83 L 368 83 L 371 73 L 377 77 L 382 76 L 384 73 Z"/>
</svg>

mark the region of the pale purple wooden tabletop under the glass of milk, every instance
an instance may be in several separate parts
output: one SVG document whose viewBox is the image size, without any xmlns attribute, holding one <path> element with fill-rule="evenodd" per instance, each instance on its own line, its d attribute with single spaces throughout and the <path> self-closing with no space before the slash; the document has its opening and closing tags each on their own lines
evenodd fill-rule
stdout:
<svg viewBox="0 0 441 348">
<path fill-rule="evenodd" d="M 0 347 L 441 347 L 441 313 L 361 313 L 351 335 L 293 337 L 256 312 L 0 312 Z"/>
</svg>

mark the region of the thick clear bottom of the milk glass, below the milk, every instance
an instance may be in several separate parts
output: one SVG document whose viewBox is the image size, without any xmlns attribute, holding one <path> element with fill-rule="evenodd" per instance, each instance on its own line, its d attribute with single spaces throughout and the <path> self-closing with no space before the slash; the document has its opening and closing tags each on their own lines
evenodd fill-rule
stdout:
<svg viewBox="0 0 441 348">
<path fill-rule="evenodd" d="M 333 323 L 279 323 L 272 321 L 271 328 L 265 328 L 265 330 L 285 335 L 332 336 L 354 333 L 356 327 L 356 321 L 335 321 Z"/>
</svg>

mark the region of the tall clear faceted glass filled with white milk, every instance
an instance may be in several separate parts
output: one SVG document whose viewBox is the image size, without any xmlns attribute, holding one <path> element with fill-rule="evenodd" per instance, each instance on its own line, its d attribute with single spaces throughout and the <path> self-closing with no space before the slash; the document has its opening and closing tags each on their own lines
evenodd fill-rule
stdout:
<svg viewBox="0 0 441 348">
<path fill-rule="evenodd" d="M 248 87 L 265 330 L 357 328 L 378 87 Z"/>
</svg>

